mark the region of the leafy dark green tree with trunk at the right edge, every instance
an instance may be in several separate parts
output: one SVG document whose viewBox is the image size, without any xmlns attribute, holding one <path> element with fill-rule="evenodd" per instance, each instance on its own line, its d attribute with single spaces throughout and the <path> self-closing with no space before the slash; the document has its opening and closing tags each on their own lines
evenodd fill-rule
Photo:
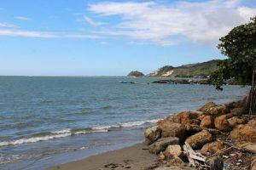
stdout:
<svg viewBox="0 0 256 170">
<path fill-rule="evenodd" d="M 230 79 L 251 85 L 247 108 L 252 113 L 256 107 L 256 17 L 245 25 L 236 26 L 219 40 L 218 48 L 227 59 L 219 61 L 211 82 L 218 90 L 222 90 L 222 85 Z"/>
</svg>

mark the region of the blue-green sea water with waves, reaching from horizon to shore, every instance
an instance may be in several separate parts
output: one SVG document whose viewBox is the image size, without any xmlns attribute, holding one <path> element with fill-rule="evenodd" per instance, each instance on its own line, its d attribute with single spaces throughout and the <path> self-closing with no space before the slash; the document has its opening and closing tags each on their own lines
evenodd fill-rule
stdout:
<svg viewBox="0 0 256 170">
<path fill-rule="evenodd" d="M 44 169 L 136 144 L 160 118 L 248 92 L 148 84 L 156 79 L 0 77 L 0 169 Z"/>
</svg>

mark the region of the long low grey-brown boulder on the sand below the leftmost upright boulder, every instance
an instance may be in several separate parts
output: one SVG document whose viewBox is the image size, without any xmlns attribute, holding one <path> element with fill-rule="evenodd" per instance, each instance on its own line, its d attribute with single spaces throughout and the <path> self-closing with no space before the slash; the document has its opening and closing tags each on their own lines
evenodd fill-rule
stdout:
<svg viewBox="0 0 256 170">
<path fill-rule="evenodd" d="M 177 137 L 161 138 L 149 145 L 149 152 L 153 154 L 159 154 L 160 151 L 166 150 L 166 147 L 170 144 L 178 144 L 179 139 Z"/>
</svg>

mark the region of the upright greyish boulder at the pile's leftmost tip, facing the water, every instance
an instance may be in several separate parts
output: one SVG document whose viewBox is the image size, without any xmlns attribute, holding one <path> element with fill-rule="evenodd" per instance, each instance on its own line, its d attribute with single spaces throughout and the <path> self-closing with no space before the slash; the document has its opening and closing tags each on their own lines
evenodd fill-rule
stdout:
<svg viewBox="0 0 256 170">
<path fill-rule="evenodd" d="M 145 130 L 145 143 L 146 144 L 153 144 L 154 141 L 160 139 L 162 130 L 159 126 L 149 127 Z"/>
</svg>

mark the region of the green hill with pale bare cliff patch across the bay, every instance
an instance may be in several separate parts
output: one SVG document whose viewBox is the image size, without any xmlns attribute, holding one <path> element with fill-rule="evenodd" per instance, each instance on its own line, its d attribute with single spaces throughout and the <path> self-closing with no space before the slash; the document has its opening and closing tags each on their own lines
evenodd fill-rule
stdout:
<svg viewBox="0 0 256 170">
<path fill-rule="evenodd" d="M 166 65 L 148 74 L 148 77 L 207 77 L 217 70 L 219 59 L 213 59 L 203 63 L 181 65 L 173 67 Z"/>
</svg>

